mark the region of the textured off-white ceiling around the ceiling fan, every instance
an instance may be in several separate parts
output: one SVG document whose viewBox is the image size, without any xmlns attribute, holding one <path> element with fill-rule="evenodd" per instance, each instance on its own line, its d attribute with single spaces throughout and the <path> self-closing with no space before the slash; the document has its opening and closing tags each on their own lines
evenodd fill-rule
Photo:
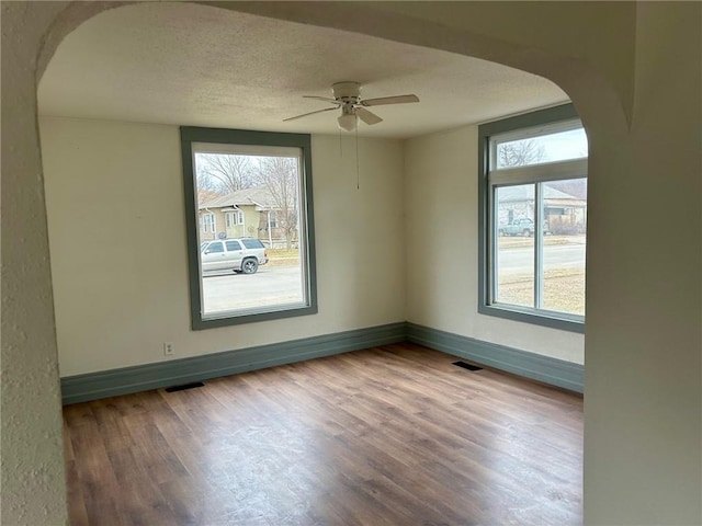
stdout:
<svg viewBox="0 0 702 526">
<path fill-rule="evenodd" d="M 567 101 L 553 82 L 445 52 L 192 3 L 147 2 L 99 14 L 59 46 L 38 89 L 43 115 L 278 132 L 338 133 L 320 110 L 342 80 L 384 122 L 359 134 L 406 138 Z"/>
</svg>

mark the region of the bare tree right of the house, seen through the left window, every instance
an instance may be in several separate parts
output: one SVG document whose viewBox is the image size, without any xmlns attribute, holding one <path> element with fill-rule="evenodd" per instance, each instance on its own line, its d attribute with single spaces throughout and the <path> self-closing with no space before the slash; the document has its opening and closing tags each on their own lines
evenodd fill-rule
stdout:
<svg viewBox="0 0 702 526">
<path fill-rule="evenodd" d="M 291 250 L 297 231 L 297 160 L 286 157 L 261 159 L 259 181 L 273 198 L 279 228 L 283 229 L 287 250 Z"/>
</svg>

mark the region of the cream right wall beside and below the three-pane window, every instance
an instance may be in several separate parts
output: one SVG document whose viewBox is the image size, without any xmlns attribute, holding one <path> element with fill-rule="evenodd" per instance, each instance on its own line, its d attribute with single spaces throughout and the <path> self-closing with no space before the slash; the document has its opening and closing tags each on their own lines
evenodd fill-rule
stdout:
<svg viewBox="0 0 702 526">
<path fill-rule="evenodd" d="M 407 320 L 582 364 L 582 334 L 477 311 L 477 140 L 467 126 L 407 141 Z"/>
</svg>

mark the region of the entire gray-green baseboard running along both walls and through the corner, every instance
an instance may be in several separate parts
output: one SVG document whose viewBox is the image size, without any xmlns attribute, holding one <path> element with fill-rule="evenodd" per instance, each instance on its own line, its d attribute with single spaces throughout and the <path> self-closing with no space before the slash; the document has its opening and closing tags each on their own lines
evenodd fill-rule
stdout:
<svg viewBox="0 0 702 526">
<path fill-rule="evenodd" d="M 584 367 L 415 323 L 390 323 L 238 351 L 136 365 L 61 378 L 65 405 L 202 381 L 248 370 L 409 341 L 571 391 L 584 390 Z"/>
</svg>

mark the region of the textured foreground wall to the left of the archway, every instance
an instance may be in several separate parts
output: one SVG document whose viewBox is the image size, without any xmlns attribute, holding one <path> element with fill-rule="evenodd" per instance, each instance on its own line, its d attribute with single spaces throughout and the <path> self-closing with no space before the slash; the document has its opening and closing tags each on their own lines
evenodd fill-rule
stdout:
<svg viewBox="0 0 702 526">
<path fill-rule="evenodd" d="M 65 2 L 2 15 L 2 524 L 68 524 L 35 61 Z"/>
</svg>

